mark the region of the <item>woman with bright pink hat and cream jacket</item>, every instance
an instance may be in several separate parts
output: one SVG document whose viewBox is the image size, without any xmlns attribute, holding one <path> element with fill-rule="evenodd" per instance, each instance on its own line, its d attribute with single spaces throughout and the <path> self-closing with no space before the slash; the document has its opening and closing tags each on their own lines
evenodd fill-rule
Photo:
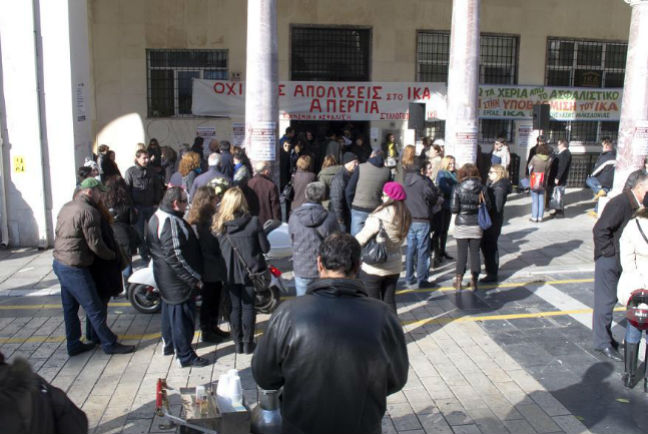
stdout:
<svg viewBox="0 0 648 434">
<path fill-rule="evenodd" d="M 396 312 L 396 283 L 403 264 L 401 244 L 407 238 L 412 217 L 405 206 L 405 189 L 398 182 L 387 182 L 383 187 L 382 204 L 367 217 L 364 227 L 356 234 L 361 246 L 376 237 L 384 242 L 387 259 L 379 264 L 362 263 L 360 279 L 369 297 L 387 303 Z"/>
</svg>

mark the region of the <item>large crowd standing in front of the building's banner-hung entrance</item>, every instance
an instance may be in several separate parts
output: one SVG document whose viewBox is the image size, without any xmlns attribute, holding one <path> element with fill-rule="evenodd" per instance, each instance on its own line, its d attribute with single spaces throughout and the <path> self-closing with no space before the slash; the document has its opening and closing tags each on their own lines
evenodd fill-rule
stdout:
<svg viewBox="0 0 648 434">
<path fill-rule="evenodd" d="M 267 269 L 270 246 L 263 227 L 270 220 L 288 223 L 298 296 L 318 280 L 323 241 L 346 232 L 365 250 L 376 244 L 383 249 L 382 259 L 363 260 L 358 275 L 369 296 L 395 313 L 402 244 L 407 240 L 407 284 L 436 285 L 431 268 L 453 260 L 446 250 L 452 214 L 455 287 L 463 287 L 470 263 L 477 289 L 480 249 L 487 272 L 482 281 L 497 280 L 497 239 L 511 191 L 500 164 L 510 161 L 503 139 L 494 146 L 486 182 L 475 165 L 456 170 L 454 158 L 430 138 L 418 153 L 397 144 L 393 134 L 371 149 L 350 129 L 322 142 L 288 128 L 280 142 L 279 185 L 270 163 L 252 168 L 244 149 L 227 141 L 211 141 L 205 158 L 200 137 L 178 152 L 151 139 L 136 150 L 123 177 L 114 152 L 99 147 L 96 161 L 79 168 L 74 200 L 61 211 L 56 230 L 54 269 L 63 287 L 70 355 L 96 344 L 109 353 L 133 350 L 116 342 L 106 314 L 108 300 L 132 273 L 137 249 L 143 261 L 153 261 L 165 354 L 175 354 L 182 366 L 207 363 L 191 346 L 196 293 L 203 300 L 201 339 L 231 336 L 238 352 L 252 353 L 255 292 L 249 274 Z M 477 222 L 481 205 L 493 222 L 484 229 Z M 86 342 L 80 340 L 79 305 L 88 312 Z M 229 319 L 231 334 L 219 327 L 222 318 Z"/>
</svg>

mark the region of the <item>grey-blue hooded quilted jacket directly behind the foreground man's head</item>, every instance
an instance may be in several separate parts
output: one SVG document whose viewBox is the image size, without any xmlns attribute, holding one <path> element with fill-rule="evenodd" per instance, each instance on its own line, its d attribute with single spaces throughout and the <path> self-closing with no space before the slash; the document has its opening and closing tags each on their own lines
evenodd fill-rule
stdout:
<svg viewBox="0 0 648 434">
<path fill-rule="evenodd" d="M 288 231 L 293 248 L 295 276 L 317 277 L 317 252 L 322 241 L 340 230 L 335 215 L 319 203 L 306 202 L 292 212 Z"/>
</svg>

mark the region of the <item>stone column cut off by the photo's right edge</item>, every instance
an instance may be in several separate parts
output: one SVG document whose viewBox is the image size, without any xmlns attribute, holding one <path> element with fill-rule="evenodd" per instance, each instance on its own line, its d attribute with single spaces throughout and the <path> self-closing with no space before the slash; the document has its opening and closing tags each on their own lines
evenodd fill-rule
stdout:
<svg viewBox="0 0 648 434">
<path fill-rule="evenodd" d="M 614 193 L 648 154 L 648 0 L 624 0 L 632 7 Z"/>
</svg>

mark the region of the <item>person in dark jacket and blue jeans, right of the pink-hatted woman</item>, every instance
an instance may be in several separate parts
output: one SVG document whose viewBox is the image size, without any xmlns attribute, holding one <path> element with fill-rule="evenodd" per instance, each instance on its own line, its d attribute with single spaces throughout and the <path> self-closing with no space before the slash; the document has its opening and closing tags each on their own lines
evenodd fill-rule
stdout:
<svg viewBox="0 0 648 434">
<path fill-rule="evenodd" d="M 407 256 L 405 257 L 405 280 L 408 285 L 422 288 L 428 285 L 430 275 L 430 221 L 432 208 L 438 194 L 432 181 L 423 175 L 425 159 L 417 157 L 411 165 L 404 166 L 403 187 L 407 194 L 405 205 L 412 216 L 407 232 Z M 416 277 L 414 267 L 416 261 Z"/>
</svg>

